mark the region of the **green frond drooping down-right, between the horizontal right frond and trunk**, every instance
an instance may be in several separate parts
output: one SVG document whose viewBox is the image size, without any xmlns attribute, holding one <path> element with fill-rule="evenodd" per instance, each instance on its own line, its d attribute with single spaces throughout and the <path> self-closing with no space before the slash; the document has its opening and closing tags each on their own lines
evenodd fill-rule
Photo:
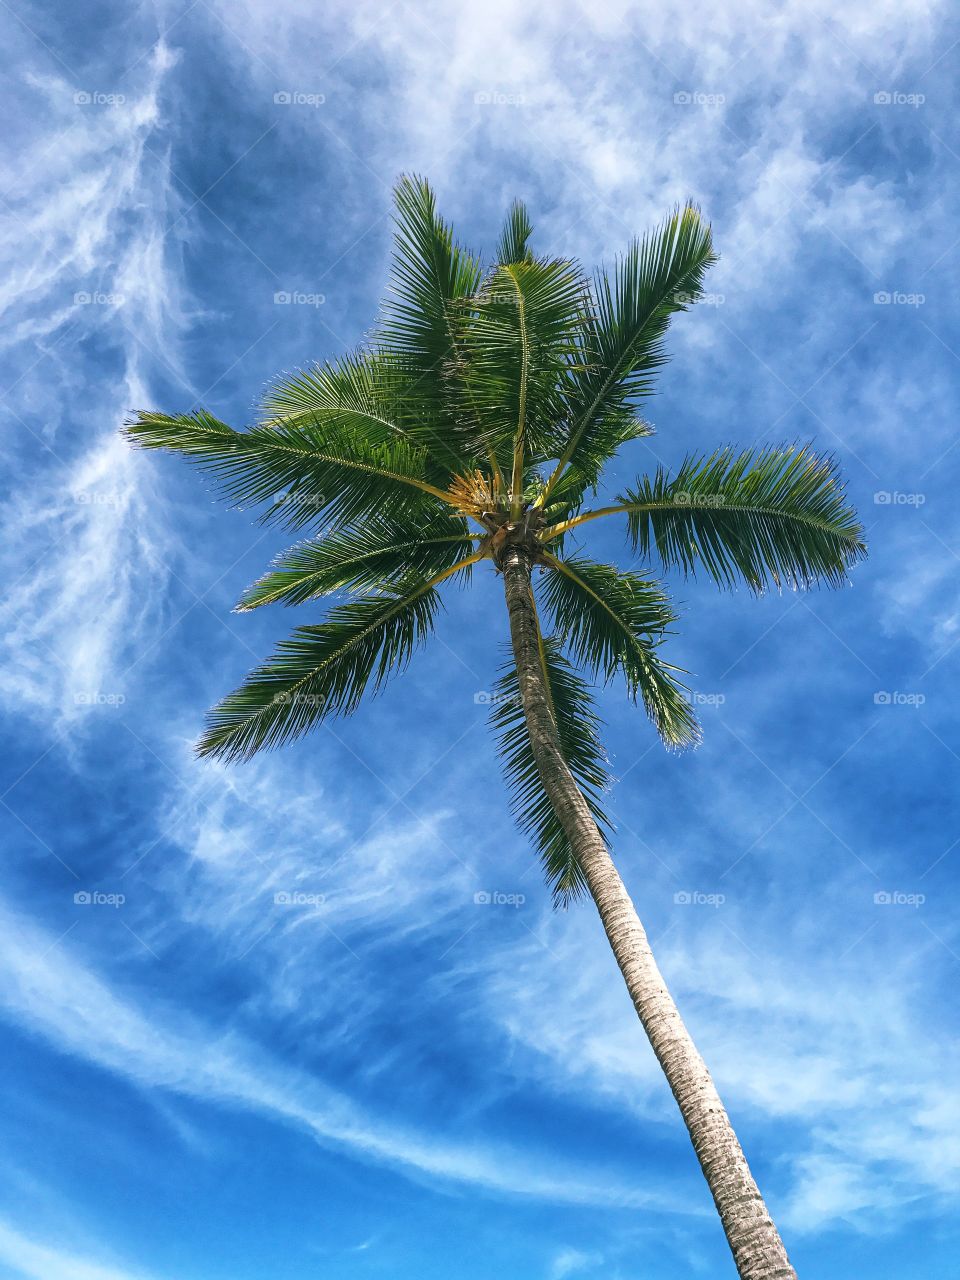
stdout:
<svg viewBox="0 0 960 1280">
<path fill-rule="evenodd" d="M 549 566 L 544 603 L 573 659 L 608 681 L 621 672 L 630 696 L 643 698 L 667 746 L 699 742 L 700 726 L 686 686 L 677 680 L 680 668 L 658 652 L 676 621 L 663 590 L 612 564 L 549 554 L 544 559 Z"/>
</svg>

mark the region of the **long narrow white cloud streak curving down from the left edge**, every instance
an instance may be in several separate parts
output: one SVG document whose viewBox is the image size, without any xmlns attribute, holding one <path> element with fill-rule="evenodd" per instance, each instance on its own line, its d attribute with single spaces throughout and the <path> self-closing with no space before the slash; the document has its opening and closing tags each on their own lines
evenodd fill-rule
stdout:
<svg viewBox="0 0 960 1280">
<path fill-rule="evenodd" d="M 557 1203 L 658 1207 L 690 1212 L 659 1184 L 591 1178 L 550 1158 L 457 1143 L 370 1115 L 316 1076 L 289 1070 L 255 1044 L 161 1009 L 141 1009 L 86 968 L 69 945 L 0 909 L 0 1004 L 18 1025 L 56 1050 L 148 1089 L 255 1111 L 324 1146 L 399 1171 L 531 1196 Z"/>
</svg>

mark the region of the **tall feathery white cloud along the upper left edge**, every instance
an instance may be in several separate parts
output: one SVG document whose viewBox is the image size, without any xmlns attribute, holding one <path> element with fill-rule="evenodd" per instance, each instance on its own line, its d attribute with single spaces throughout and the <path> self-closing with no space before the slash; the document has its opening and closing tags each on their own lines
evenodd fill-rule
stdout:
<svg viewBox="0 0 960 1280">
<path fill-rule="evenodd" d="M 20 483 L 3 516 L 0 687 L 58 727 L 123 694 L 177 547 L 150 468 L 116 434 L 150 399 L 150 365 L 182 378 L 183 292 L 164 238 L 177 201 L 163 156 L 151 155 L 174 63 L 159 44 L 137 96 L 113 106 L 78 104 L 74 84 L 28 76 L 31 122 L 44 124 L 5 174 L 0 310 L 18 374 L 5 393 L 6 449 Z M 78 358 L 81 342 L 104 352 L 102 366 Z"/>
</svg>

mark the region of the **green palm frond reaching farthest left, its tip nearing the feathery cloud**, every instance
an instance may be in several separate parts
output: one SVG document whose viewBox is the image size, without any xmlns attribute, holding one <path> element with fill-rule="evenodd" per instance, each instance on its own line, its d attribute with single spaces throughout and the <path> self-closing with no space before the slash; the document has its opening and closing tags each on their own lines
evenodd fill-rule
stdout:
<svg viewBox="0 0 960 1280">
<path fill-rule="evenodd" d="M 172 449 L 211 472 L 228 500 L 269 503 L 264 520 L 301 529 L 321 516 L 353 521 L 381 511 L 445 502 L 425 480 L 426 452 L 402 439 L 371 443 L 340 422 L 278 422 L 234 431 L 212 415 L 140 412 L 125 435 L 146 449 Z M 435 502 L 428 506 L 436 509 Z"/>
</svg>

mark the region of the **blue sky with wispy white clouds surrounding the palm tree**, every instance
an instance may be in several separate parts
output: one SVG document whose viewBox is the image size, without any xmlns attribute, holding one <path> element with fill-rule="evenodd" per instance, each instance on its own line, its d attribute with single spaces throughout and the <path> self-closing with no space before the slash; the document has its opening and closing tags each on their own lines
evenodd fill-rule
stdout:
<svg viewBox="0 0 960 1280">
<path fill-rule="evenodd" d="M 713 220 L 658 434 L 611 486 L 727 442 L 844 467 L 870 544 L 850 588 L 672 584 L 696 753 L 600 694 L 614 847 L 800 1274 L 952 1275 L 948 6 L 0 20 L 3 1280 L 732 1270 L 595 915 L 552 911 L 511 824 L 476 701 L 492 573 L 355 718 L 243 768 L 191 754 L 289 630 L 230 612 L 283 543 L 116 429 L 243 424 L 276 372 L 357 343 L 402 170 L 479 247 L 515 195 L 586 264 L 687 196 Z M 616 530 L 589 545 L 626 562 Z"/>
</svg>

